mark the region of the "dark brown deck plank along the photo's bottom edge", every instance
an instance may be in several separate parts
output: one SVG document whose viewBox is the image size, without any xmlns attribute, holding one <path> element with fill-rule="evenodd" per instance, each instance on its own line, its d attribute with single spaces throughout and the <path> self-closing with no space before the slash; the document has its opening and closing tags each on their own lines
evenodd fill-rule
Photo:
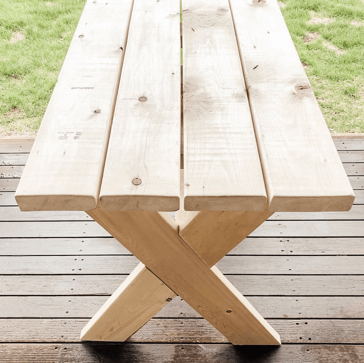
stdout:
<svg viewBox="0 0 364 363">
<path fill-rule="evenodd" d="M 284 344 L 233 346 L 231 344 L 161 343 L 14 343 L 0 344 L 6 363 L 342 363 L 364 359 L 363 345 Z"/>
</svg>

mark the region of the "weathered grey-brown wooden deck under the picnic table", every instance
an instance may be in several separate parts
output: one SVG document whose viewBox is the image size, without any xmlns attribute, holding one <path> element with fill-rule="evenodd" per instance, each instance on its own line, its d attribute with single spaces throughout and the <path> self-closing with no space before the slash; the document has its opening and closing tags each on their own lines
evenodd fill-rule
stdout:
<svg viewBox="0 0 364 363">
<path fill-rule="evenodd" d="M 351 211 L 275 213 L 217 264 L 279 347 L 226 343 L 178 296 L 125 343 L 80 342 L 138 260 L 84 212 L 20 212 L 31 143 L 0 142 L 1 363 L 364 361 L 364 139 L 334 141 Z"/>
</svg>

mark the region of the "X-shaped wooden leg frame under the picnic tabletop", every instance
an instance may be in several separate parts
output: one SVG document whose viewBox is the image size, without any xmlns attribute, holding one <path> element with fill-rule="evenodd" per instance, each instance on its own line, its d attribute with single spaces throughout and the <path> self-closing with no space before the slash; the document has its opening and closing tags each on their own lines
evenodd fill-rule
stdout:
<svg viewBox="0 0 364 363">
<path fill-rule="evenodd" d="M 125 340 L 175 291 L 234 344 L 280 343 L 274 329 L 213 266 L 270 211 L 198 212 L 180 225 L 183 238 L 167 213 L 96 208 L 88 214 L 151 272 L 139 264 L 82 329 L 81 339 Z"/>
</svg>

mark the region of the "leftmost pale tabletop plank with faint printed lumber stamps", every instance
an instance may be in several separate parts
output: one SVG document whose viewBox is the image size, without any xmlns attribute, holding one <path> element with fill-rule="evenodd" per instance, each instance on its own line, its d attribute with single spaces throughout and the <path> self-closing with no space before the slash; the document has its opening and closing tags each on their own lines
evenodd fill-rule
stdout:
<svg viewBox="0 0 364 363">
<path fill-rule="evenodd" d="M 132 3 L 87 0 L 17 187 L 21 210 L 96 207 Z"/>
</svg>

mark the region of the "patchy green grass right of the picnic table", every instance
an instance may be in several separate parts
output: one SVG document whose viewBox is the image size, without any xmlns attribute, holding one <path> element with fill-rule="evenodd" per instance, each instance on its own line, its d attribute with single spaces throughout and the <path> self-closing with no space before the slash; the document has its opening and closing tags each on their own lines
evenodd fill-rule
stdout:
<svg viewBox="0 0 364 363">
<path fill-rule="evenodd" d="M 281 11 L 331 132 L 364 132 L 364 3 L 281 0 Z"/>
</svg>

